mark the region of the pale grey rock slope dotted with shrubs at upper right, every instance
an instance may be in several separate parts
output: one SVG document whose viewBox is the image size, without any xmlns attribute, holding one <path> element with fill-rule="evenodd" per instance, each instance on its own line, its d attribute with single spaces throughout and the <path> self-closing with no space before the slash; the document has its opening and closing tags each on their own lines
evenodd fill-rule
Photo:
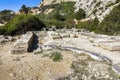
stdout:
<svg viewBox="0 0 120 80">
<path fill-rule="evenodd" d="M 75 12 L 81 8 L 86 12 L 87 18 L 97 17 L 101 22 L 119 3 L 117 0 L 77 0 Z"/>
</svg>

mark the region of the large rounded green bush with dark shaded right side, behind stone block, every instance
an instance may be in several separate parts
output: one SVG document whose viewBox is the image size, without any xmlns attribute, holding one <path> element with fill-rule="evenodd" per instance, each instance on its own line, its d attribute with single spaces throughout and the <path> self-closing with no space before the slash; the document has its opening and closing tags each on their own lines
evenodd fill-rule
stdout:
<svg viewBox="0 0 120 80">
<path fill-rule="evenodd" d="M 32 15 L 18 15 L 5 25 L 5 34 L 21 34 L 26 31 L 41 30 L 44 23 Z"/>
</svg>

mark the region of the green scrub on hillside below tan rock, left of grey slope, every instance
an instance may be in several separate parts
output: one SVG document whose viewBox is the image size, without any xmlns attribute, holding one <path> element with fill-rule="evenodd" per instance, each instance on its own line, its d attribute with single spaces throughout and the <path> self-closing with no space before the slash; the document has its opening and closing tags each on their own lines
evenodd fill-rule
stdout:
<svg viewBox="0 0 120 80">
<path fill-rule="evenodd" d="M 46 10 L 49 8 L 53 8 L 54 11 L 49 13 L 50 18 L 56 18 L 55 15 L 59 15 L 60 17 L 66 19 L 73 19 L 75 17 L 74 15 L 74 5 L 75 2 L 63 2 L 61 4 L 53 4 L 53 5 L 47 5 L 43 6 L 41 10 Z"/>
</svg>

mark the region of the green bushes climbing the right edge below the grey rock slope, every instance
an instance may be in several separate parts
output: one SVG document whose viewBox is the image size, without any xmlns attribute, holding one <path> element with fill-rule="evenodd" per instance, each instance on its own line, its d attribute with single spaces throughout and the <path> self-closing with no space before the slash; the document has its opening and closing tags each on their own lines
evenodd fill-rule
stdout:
<svg viewBox="0 0 120 80">
<path fill-rule="evenodd" d="M 100 24 L 96 18 L 93 21 L 79 22 L 77 28 L 108 35 L 120 34 L 120 5 L 116 6 Z"/>
</svg>

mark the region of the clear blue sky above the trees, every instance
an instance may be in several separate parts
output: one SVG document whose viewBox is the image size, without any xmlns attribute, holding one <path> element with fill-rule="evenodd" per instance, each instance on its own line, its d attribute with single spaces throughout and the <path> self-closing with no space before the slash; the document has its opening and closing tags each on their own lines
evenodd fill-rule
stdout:
<svg viewBox="0 0 120 80">
<path fill-rule="evenodd" d="M 41 0 L 1 0 L 0 11 L 7 9 L 12 11 L 19 11 L 21 6 L 25 4 L 27 7 L 38 6 Z"/>
</svg>

